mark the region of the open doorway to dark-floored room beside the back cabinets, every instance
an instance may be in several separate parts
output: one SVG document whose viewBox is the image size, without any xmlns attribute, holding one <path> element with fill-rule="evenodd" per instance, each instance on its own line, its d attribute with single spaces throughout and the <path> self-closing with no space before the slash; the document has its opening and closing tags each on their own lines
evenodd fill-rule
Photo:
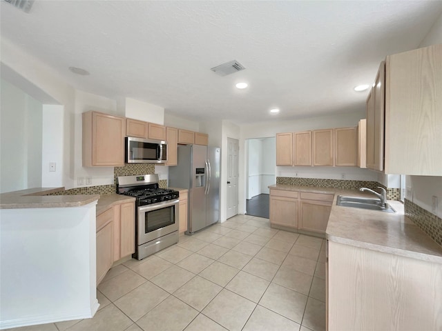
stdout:
<svg viewBox="0 0 442 331">
<path fill-rule="evenodd" d="M 276 138 L 247 139 L 248 215 L 269 218 L 269 185 L 276 183 Z"/>
</svg>

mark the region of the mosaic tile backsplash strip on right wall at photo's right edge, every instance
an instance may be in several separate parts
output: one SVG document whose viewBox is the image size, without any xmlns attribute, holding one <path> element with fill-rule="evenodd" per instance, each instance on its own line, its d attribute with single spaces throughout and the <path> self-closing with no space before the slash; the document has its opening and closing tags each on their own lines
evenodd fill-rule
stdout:
<svg viewBox="0 0 442 331">
<path fill-rule="evenodd" d="M 421 208 L 416 203 L 405 199 L 404 201 L 405 215 L 409 217 L 413 223 L 428 234 L 436 243 L 442 246 L 442 219 L 432 214 L 428 210 Z"/>
</svg>

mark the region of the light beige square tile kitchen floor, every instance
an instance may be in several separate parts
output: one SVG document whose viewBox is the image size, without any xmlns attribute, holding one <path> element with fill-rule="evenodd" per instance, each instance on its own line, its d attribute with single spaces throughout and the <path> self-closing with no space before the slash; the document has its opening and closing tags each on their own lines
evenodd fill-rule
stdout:
<svg viewBox="0 0 442 331">
<path fill-rule="evenodd" d="M 20 331 L 325 330 L 325 241 L 238 215 L 109 270 L 93 319 Z"/>
</svg>

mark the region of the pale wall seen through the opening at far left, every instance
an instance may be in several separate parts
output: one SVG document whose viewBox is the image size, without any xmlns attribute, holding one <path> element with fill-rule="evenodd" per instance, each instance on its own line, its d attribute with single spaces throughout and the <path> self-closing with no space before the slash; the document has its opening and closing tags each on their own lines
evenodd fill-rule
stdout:
<svg viewBox="0 0 442 331">
<path fill-rule="evenodd" d="M 41 186 L 43 105 L 1 79 L 0 192 Z"/>
</svg>

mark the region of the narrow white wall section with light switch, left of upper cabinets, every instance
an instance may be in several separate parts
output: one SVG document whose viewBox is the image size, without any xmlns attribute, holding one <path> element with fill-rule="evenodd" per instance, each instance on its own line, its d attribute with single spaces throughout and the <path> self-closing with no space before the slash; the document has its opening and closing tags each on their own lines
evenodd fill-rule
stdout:
<svg viewBox="0 0 442 331">
<path fill-rule="evenodd" d="M 63 123 L 64 108 L 43 105 L 43 146 L 41 156 L 41 187 L 63 186 Z M 49 163 L 55 162 L 55 172 L 49 171 Z"/>
</svg>

